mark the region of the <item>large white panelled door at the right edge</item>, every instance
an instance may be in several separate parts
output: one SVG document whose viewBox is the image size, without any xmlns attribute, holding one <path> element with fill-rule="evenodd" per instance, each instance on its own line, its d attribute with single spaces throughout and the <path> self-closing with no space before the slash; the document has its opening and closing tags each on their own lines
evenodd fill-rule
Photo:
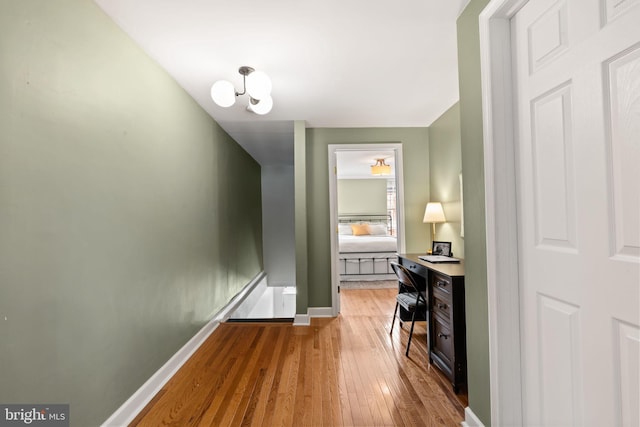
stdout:
<svg viewBox="0 0 640 427">
<path fill-rule="evenodd" d="M 512 19 L 527 425 L 640 424 L 640 1 Z"/>
</svg>

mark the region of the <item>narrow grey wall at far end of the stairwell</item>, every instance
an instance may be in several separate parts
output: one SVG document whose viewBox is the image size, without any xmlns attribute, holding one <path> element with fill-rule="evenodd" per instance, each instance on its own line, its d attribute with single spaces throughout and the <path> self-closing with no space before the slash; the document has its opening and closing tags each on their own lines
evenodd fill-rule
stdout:
<svg viewBox="0 0 640 427">
<path fill-rule="evenodd" d="M 295 286 L 293 166 L 262 167 L 262 238 L 269 286 Z"/>
</svg>

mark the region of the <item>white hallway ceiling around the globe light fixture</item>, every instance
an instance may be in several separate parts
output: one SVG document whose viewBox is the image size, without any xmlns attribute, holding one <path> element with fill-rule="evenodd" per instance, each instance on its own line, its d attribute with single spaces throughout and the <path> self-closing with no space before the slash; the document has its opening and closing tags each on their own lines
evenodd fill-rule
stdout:
<svg viewBox="0 0 640 427">
<path fill-rule="evenodd" d="M 308 127 L 429 126 L 458 100 L 455 21 L 468 0 L 95 0 L 261 164 L 293 162 Z M 273 110 L 221 108 L 220 79 L 266 72 Z"/>
</svg>

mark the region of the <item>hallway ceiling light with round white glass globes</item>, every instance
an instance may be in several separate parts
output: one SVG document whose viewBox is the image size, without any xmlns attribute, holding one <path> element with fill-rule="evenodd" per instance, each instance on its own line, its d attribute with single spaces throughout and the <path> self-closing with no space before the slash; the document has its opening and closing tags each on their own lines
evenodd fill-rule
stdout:
<svg viewBox="0 0 640 427">
<path fill-rule="evenodd" d="M 267 114 L 273 107 L 271 98 L 271 79 L 262 71 L 256 71 L 246 65 L 238 69 L 242 75 L 242 92 L 237 92 L 233 84 L 226 80 L 218 80 L 211 86 L 211 99 L 221 107 L 231 107 L 236 97 L 249 95 L 247 110 L 256 114 Z"/>
</svg>

